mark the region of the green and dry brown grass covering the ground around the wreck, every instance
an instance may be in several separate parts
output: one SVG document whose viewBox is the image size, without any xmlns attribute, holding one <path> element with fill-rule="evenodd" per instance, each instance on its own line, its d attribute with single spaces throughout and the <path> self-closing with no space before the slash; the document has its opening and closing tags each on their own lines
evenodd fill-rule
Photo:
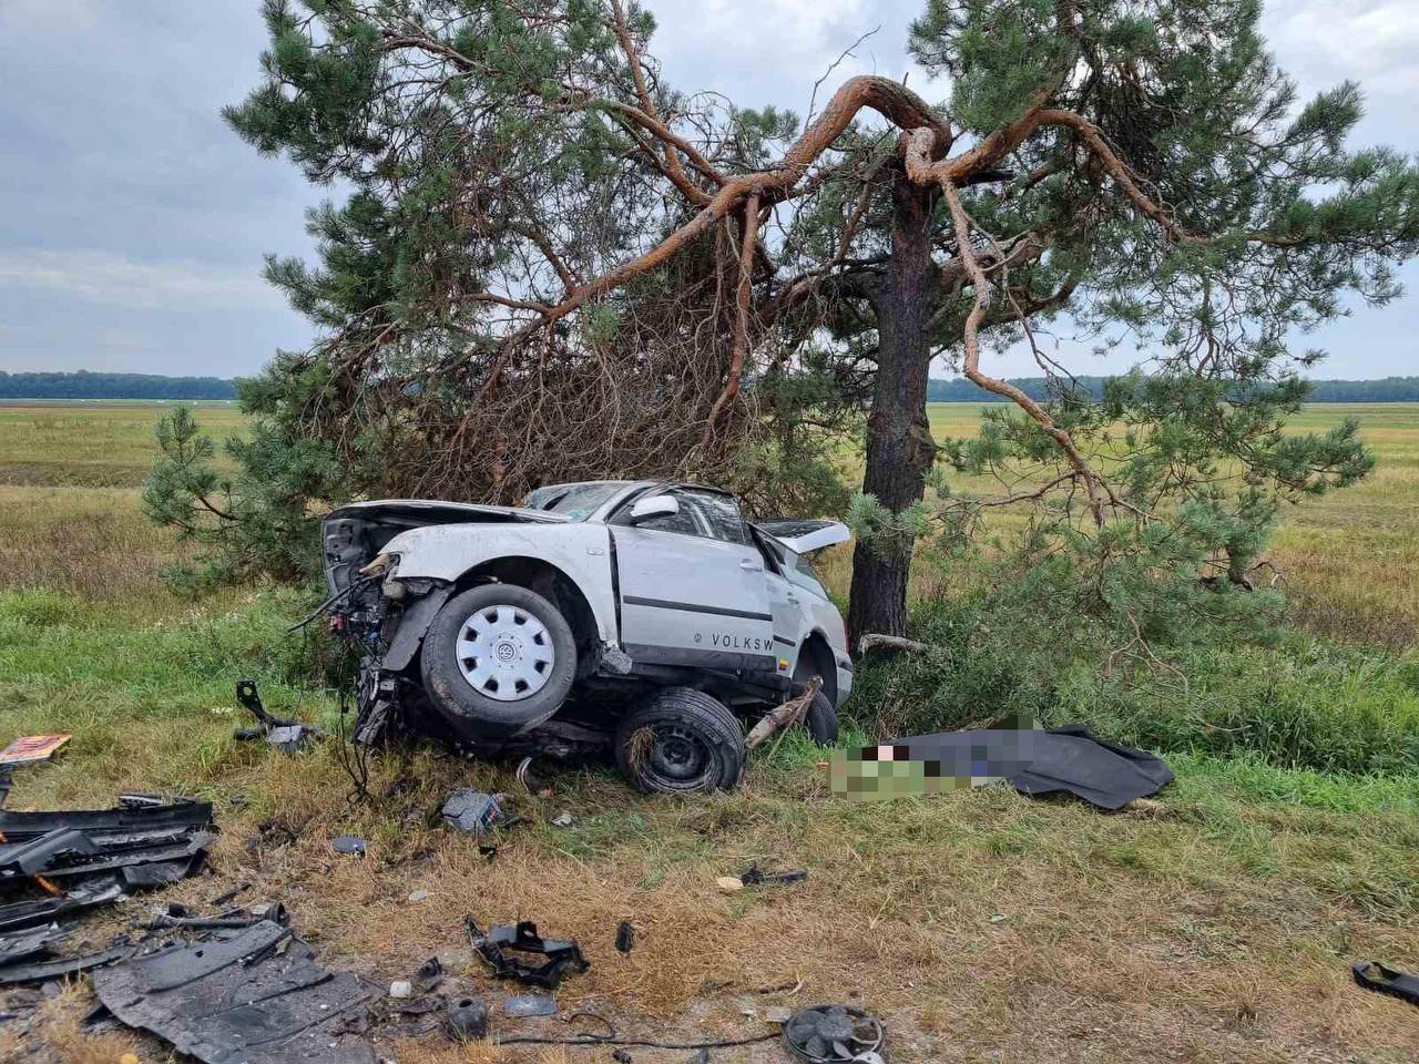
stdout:
<svg viewBox="0 0 1419 1064">
<path fill-rule="evenodd" d="M 965 417 L 932 413 L 938 423 Z M 1402 458 L 1419 445 L 1419 407 L 1381 413 L 1376 480 L 1386 453 Z M 47 443 L 24 431 L 24 419 L 40 416 L 58 419 Z M 905 1063 L 1419 1055 L 1419 1013 L 1359 992 L 1348 970 L 1368 958 L 1419 968 L 1419 776 L 1176 753 L 1178 782 L 1156 802 L 1101 816 L 1000 787 L 833 799 L 820 750 L 799 736 L 756 758 L 742 790 L 694 800 L 636 796 L 602 769 L 543 769 L 528 792 L 509 765 L 399 746 L 370 760 L 377 800 L 352 806 L 335 743 L 285 758 L 233 739 L 244 722 L 238 678 L 255 677 L 274 711 L 326 726 L 339 722 L 338 701 L 312 685 L 311 647 L 284 631 L 307 606 L 299 596 L 243 589 L 189 602 L 156 582 L 180 545 L 142 522 L 132 484 L 104 487 L 92 472 L 128 464 L 132 478 L 146 462 L 132 421 L 146 417 L 0 409 L 0 470 L 23 464 L 48 478 L 0 484 L 0 741 L 75 736 L 53 765 L 17 776 L 17 807 L 106 804 L 125 787 L 213 799 L 214 877 L 163 901 L 206 909 L 250 882 L 247 897 L 282 898 L 332 965 L 387 985 L 437 953 L 451 986 L 474 993 L 501 987 L 471 958 L 463 915 L 535 919 L 545 933 L 578 938 L 593 962 L 559 992 L 563 1012 L 614 1016 L 623 1031 L 647 1036 L 756 1033 L 746 1009 L 850 1000 L 884 1017 L 893 1060 Z M 1366 587 L 1362 575 L 1376 545 L 1389 543 L 1386 563 L 1399 570 L 1416 549 L 1419 465 L 1399 467 L 1410 472 L 1396 474 L 1389 494 L 1362 485 L 1287 516 L 1283 542 L 1310 542 L 1320 559 L 1288 548 L 1291 586 L 1342 607 L 1305 614 L 1323 631 L 1342 616 L 1349 634 L 1372 643 L 1395 645 L 1406 623 L 1412 631 L 1403 586 Z M 1396 579 L 1412 593 L 1412 572 Z M 1389 698 L 1352 674 L 1348 698 Z M 524 817 L 494 860 L 440 826 L 454 786 L 502 790 Z M 575 817 L 569 829 L 549 824 L 562 810 Z M 333 854 L 338 833 L 368 837 L 368 858 Z M 715 888 L 715 877 L 751 861 L 803 867 L 810 878 L 735 895 Z M 427 898 L 410 902 L 414 890 Z M 101 941 L 146 905 L 88 921 L 84 932 Z M 622 919 L 637 928 L 629 956 L 612 948 Z M 799 980 L 795 993 L 758 993 Z M 132 1048 L 145 1063 L 165 1060 L 152 1040 L 135 1048 L 126 1034 L 78 1033 L 72 1017 L 87 1000 L 70 990 L 23 1038 L 0 1027 L 0 1058 L 96 1064 Z M 454 1046 L 413 1030 L 379 1051 L 436 1064 L 609 1055 Z M 712 1060 L 779 1060 L 756 1053 Z M 687 1055 L 633 1054 L 650 1064 Z"/>
</svg>

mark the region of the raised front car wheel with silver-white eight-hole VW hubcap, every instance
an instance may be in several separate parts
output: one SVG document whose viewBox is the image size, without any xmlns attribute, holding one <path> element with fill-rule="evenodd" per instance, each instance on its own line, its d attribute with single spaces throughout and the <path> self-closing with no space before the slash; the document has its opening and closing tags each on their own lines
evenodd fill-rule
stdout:
<svg viewBox="0 0 1419 1064">
<path fill-rule="evenodd" d="M 420 670 L 434 708 L 461 736 L 508 739 L 562 708 L 576 678 L 576 638 L 536 592 L 482 583 L 434 614 Z"/>
</svg>

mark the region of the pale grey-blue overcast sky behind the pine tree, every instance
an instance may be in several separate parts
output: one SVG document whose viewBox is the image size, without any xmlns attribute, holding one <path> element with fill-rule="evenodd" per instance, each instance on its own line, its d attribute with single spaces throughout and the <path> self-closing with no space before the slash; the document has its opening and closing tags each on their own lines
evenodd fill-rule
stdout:
<svg viewBox="0 0 1419 1064">
<path fill-rule="evenodd" d="M 813 82 L 873 27 L 824 91 L 861 71 L 907 72 L 907 26 L 922 3 L 650 7 L 674 85 L 802 115 Z M 260 271 L 264 253 L 309 251 L 304 210 L 321 190 L 257 156 L 217 113 L 257 81 L 258 10 L 258 0 L 0 0 L 0 370 L 234 376 L 309 343 Z M 1361 81 L 1361 142 L 1419 153 L 1419 0 L 1273 0 L 1266 27 L 1304 94 Z M 920 70 L 910 84 L 945 95 Z M 1419 267 L 1405 279 L 1412 294 L 1358 306 L 1305 340 L 1331 352 L 1318 373 L 1419 373 Z M 1073 367 L 1127 360 L 1084 355 Z M 1032 367 L 1006 355 L 990 369 Z"/>
</svg>

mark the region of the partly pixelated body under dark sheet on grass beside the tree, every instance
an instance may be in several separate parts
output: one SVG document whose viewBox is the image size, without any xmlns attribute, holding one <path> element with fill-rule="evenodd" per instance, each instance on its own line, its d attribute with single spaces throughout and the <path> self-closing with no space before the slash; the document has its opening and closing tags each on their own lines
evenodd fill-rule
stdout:
<svg viewBox="0 0 1419 1064">
<path fill-rule="evenodd" d="M 1022 794 L 1069 792 L 1117 811 L 1155 794 L 1172 770 L 1158 756 L 1097 738 L 1078 724 L 1061 728 L 979 728 L 894 739 L 839 753 L 829 763 L 837 794 L 884 799 L 939 793 L 1005 780 Z"/>
</svg>

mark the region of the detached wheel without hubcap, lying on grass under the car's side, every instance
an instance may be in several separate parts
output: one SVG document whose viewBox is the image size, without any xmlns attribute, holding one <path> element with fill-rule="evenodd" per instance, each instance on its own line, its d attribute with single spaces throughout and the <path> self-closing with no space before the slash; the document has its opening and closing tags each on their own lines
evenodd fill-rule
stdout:
<svg viewBox="0 0 1419 1064">
<path fill-rule="evenodd" d="M 744 773 L 744 729 L 718 698 L 666 687 L 622 718 L 616 763 L 647 794 L 727 790 Z"/>
</svg>

